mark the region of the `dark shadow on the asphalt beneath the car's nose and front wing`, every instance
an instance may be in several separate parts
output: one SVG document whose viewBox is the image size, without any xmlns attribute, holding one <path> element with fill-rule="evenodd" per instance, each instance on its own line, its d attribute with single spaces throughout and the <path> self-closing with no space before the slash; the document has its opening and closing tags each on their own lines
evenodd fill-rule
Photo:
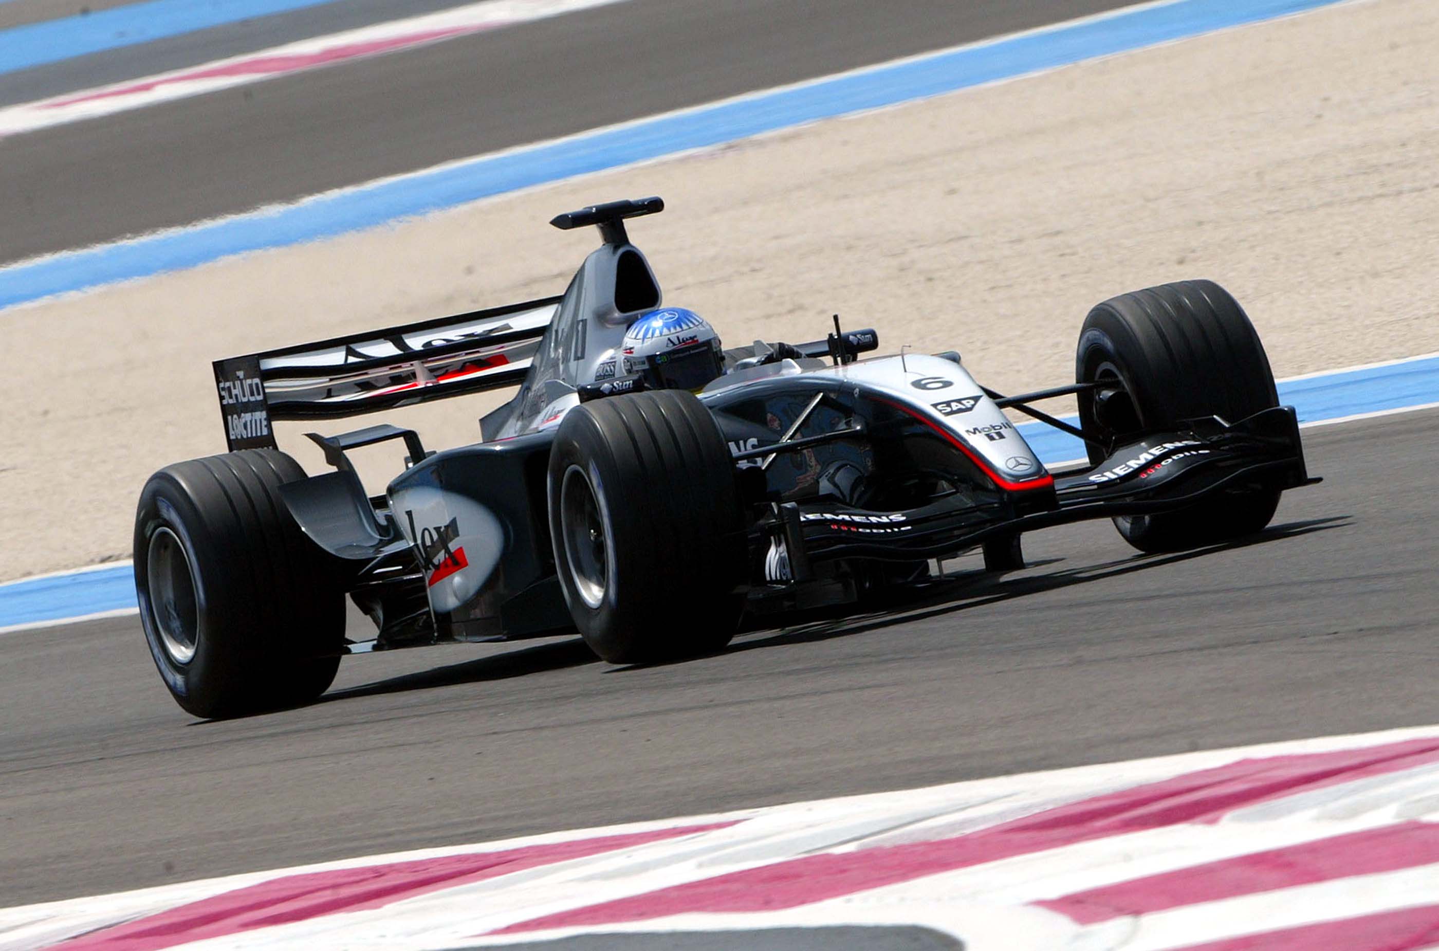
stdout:
<svg viewBox="0 0 1439 951">
<path fill-rule="evenodd" d="M 928 586 L 928 588 L 922 593 L 917 593 L 911 599 L 895 601 L 888 606 L 884 613 L 865 611 L 863 614 L 825 617 L 799 624 L 790 624 L 767 637 L 757 637 L 754 640 L 744 640 L 731 645 L 730 652 L 755 650 L 760 647 L 780 645 L 810 643 L 830 640 L 833 637 L 846 637 L 849 634 L 861 634 L 871 630 L 882 630 L 892 624 L 943 617 L 945 614 L 968 610 L 971 607 L 983 607 L 986 604 L 996 604 L 1016 597 L 1039 594 L 1040 591 L 1055 591 L 1059 588 L 1073 587 L 1076 584 L 1085 584 L 1088 581 L 1117 578 L 1135 571 L 1147 571 L 1150 568 L 1179 564 L 1181 561 L 1203 558 L 1206 555 L 1233 548 L 1249 548 L 1252 545 L 1265 545 L 1274 541 L 1295 538 L 1298 535 L 1308 535 L 1311 532 L 1345 528 L 1351 524 L 1350 519 L 1350 515 L 1334 515 L 1330 518 L 1311 518 L 1305 521 L 1285 522 L 1282 525 L 1271 525 L 1258 535 L 1225 542 L 1222 545 L 1207 545 L 1204 548 L 1180 551 L 1167 555 L 1137 554 L 1115 561 L 1020 578 L 1006 578 L 1003 574 L 989 574 L 984 571 L 968 571 L 945 577 L 943 581 Z M 1055 561 L 1059 561 L 1059 558 L 1032 561 L 1027 568 L 1053 564 Z"/>
</svg>

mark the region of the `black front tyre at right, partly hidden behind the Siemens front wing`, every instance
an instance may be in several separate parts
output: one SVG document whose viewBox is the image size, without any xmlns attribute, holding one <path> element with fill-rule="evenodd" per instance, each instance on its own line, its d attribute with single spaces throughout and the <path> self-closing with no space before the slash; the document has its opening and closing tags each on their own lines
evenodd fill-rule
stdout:
<svg viewBox="0 0 1439 951">
<path fill-rule="evenodd" d="M 1108 447 L 1186 419 L 1233 423 L 1279 404 L 1253 324 L 1213 281 L 1163 283 L 1095 306 L 1079 332 L 1075 378 L 1120 384 L 1098 397 L 1079 396 L 1081 427 Z M 1104 459 L 1104 449 L 1088 449 L 1091 463 Z M 1243 486 L 1114 524 L 1140 551 L 1181 551 L 1258 532 L 1278 505 L 1278 489 Z"/>
</svg>

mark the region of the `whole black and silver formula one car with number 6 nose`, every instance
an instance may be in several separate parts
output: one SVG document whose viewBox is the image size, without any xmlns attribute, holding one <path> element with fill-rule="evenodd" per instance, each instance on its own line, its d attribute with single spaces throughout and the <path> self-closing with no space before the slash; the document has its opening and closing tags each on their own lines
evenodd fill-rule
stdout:
<svg viewBox="0 0 1439 951">
<path fill-rule="evenodd" d="M 322 693 L 347 653 L 578 630 L 604 660 L 724 647 L 747 613 L 856 604 L 1023 532 L 1112 518 L 1141 551 L 1258 532 L 1315 482 L 1263 347 L 1219 285 L 1124 294 L 1084 322 L 1075 383 L 1000 396 L 960 355 L 861 358 L 873 329 L 721 350 L 661 309 L 625 220 L 659 199 L 555 217 L 599 226 L 555 298 L 214 364 L 229 452 L 167 466 L 135 519 L 150 652 L 189 712 Z M 307 476 L 273 420 L 325 420 L 518 386 L 484 442 L 427 450 L 380 424 L 308 433 Z M 1075 394 L 1079 426 L 1030 404 Z M 1049 472 L 1003 410 L 1081 437 Z M 347 453 L 400 440 L 368 496 Z M 344 597 L 373 619 L 345 637 Z"/>
</svg>

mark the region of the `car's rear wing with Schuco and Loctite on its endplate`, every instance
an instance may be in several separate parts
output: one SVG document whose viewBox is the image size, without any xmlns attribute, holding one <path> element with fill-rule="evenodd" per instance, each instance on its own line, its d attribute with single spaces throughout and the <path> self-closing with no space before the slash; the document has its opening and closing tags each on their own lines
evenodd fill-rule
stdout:
<svg viewBox="0 0 1439 951">
<path fill-rule="evenodd" d="M 273 420 L 341 419 L 518 386 L 560 298 L 214 361 L 229 449 L 273 449 Z"/>
</svg>

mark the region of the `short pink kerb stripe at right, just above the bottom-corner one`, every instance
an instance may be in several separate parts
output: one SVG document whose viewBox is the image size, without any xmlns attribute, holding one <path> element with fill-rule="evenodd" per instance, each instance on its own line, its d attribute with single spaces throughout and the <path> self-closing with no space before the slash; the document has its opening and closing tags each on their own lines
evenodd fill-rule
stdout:
<svg viewBox="0 0 1439 951">
<path fill-rule="evenodd" d="M 1439 824 L 1407 822 L 1035 902 L 1081 925 L 1439 862 Z M 1315 945 L 1318 947 L 1318 945 Z"/>
</svg>

